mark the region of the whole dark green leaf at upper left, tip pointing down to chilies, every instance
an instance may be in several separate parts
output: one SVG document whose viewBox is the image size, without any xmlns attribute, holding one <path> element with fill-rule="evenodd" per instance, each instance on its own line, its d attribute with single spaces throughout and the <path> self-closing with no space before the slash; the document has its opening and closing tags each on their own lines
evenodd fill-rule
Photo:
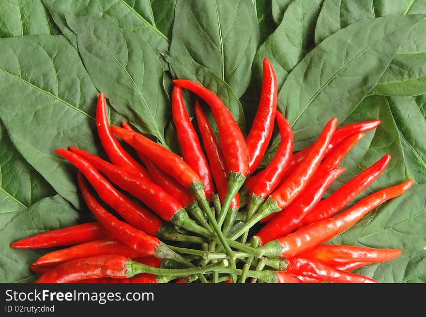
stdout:
<svg viewBox="0 0 426 317">
<path fill-rule="evenodd" d="M 166 145 L 169 102 L 163 68 L 151 46 L 105 19 L 67 16 L 67 22 L 77 34 L 78 52 L 96 88 L 139 131 Z"/>
</svg>

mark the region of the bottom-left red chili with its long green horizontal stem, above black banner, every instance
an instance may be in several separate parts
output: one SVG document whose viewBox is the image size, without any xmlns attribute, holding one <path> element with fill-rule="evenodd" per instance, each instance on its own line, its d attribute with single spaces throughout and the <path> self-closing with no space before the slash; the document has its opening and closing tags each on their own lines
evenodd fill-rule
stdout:
<svg viewBox="0 0 426 317">
<path fill-rule="evenodd" d="M 70 283 L 91 278 L 130 278 L 140 273 L 165 276 L 186 276 L 198 274 L 203 276 L 214 270 L 228 266 L 225 259 L 216 264 L 189 269 L 160 269 L 138 263 L 120 255 L 102 255 L 83 257 L 62 263 L 43 274 L 35 283 Z"/>
</svg>

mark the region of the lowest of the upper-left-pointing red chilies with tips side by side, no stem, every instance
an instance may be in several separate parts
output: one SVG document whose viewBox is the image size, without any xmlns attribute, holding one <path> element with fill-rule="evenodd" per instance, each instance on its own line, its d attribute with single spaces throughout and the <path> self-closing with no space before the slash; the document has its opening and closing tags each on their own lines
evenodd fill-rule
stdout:
<svg viewBox="0 0 426 317">
<path fill-rule="evenodd" d="M 130 198 L 117 191 L 89 162 L 75 153 L 63 149 L 55 150 L 77 167 L 91 183 L 98 195 L 112 209 L 117 211 L 129 224 L 149 235 L 156 236 L 163 222 L 151 211 L 139 206 Z"/>
</svg>

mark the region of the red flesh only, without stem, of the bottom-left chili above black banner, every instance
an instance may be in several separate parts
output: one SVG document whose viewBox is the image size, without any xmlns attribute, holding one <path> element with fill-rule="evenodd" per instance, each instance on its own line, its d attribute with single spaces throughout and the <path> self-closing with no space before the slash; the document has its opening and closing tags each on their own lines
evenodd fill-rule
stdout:
<svg viewBox="0 0 426 317">
<path fill-rule="evenodd" d="M 58 265 L 35 283 L 70 283 L 90 278 L 126 278 L 129 258 L 120 255 L 84 257 Z"/>
</svg>

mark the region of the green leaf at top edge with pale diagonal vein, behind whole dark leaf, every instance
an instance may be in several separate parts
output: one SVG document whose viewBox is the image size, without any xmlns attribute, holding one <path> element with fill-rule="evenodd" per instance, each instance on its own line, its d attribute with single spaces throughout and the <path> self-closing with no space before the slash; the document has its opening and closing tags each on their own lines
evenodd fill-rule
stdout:
<svg viewBox="0 0 426 317">
<path fill-rule="evenodd" d="M 76 34 L 65 16 L 87 16 L 113 21 L 140 35 L 152 47 L 167 49 L 176 0 L 43 0 L 58 27 L 77 48 Z"/>
</svg>

